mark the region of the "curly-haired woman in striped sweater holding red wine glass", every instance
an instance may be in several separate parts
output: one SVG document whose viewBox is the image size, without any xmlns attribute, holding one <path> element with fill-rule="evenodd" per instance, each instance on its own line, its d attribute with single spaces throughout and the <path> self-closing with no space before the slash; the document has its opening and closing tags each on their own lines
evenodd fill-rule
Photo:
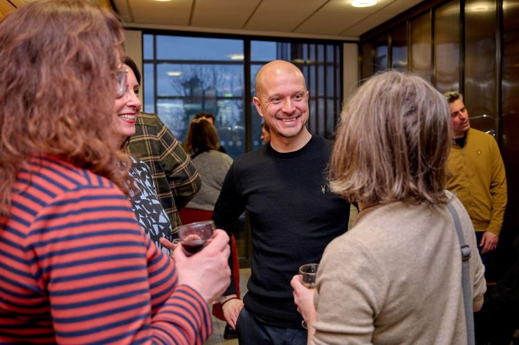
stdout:
<svg viewBox="0 0 519 345">
<path fill-rule="evenodd" d="M 136 222 L 114 136 L 131 119 L 114 112 L 122 41 L 89 1 L 34 1 L 0 23 L 2 344 L 202 344 L 212 332 L 228 236 L 172 261 Z"/>
</svg>

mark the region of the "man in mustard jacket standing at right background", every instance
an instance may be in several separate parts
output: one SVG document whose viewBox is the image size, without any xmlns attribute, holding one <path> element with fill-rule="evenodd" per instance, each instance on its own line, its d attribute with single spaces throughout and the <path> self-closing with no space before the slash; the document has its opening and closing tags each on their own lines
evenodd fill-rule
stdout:
<svg viewBox="0 0 519 345">
<path fill-rule="evenodd" d="M 507 205 L 507 178 L 499 147 L 487 133 L 471 129 L 463 96 L 444 93 L 453 119 L 453 147 L 448 157 L 447 189 L 455 192 L 471 216 L 478 248 L 495 250 Z"/>
</svg>

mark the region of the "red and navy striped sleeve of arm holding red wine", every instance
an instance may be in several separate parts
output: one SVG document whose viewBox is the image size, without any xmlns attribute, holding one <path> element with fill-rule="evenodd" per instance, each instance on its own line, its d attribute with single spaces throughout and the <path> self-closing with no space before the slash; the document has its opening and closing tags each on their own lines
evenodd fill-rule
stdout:
<svg viewBox="0 0 519 345">
<path fill-rule="evenodd" d="M 176 281 L 170 259 L 136 225 L 128 201 L 111 193 L 63 194 L 33 223 L 35 273 L 48 290 L 57 341 L 203 344 L 207 304 L 181 287 L 158 308 Z"/>
</svg>

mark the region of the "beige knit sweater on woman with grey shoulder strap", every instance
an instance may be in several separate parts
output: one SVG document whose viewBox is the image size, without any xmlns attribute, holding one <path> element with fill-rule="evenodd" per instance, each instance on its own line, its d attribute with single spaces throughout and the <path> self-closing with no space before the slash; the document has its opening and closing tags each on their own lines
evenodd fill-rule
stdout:
<svg viewBox="0 0 519 345">
<path fill-rule="evenodd" d="M 473 226 L 457 198 L 453 205 L 473 252 L 473 299 L 481 303 L 486 284 Z M 317 289 L 311 344 L 466 344 L 462 259 L 444 206 L 363 210 L 326 248 Z"/>
</svg>

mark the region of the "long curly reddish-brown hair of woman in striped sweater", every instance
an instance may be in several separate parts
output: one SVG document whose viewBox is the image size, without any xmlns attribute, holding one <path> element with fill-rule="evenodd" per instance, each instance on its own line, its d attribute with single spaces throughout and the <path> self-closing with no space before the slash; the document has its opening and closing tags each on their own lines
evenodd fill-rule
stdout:
<svg viewBox="0 0 519 345">
<path fill-rule="evenodd" d="M 113 142 L 120 19 L 89 1 L 28 3 L 0 23 L 0 214 L 28 157 L 59 156 L 128 193 Z M 125 169 L 122 169 L 122 166 Z"/>
</svg>

